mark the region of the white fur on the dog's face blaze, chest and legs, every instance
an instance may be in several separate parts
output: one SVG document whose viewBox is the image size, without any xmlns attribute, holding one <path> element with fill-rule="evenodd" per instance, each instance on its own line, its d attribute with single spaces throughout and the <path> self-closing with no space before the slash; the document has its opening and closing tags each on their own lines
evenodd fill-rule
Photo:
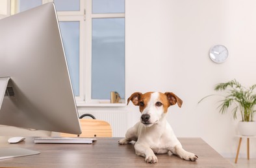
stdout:
<svg viewBox="0 0 256 168">
<path fill-rule="evenodd" d="M 150 115 L 150 124 L 144 125 L 142 121 L 139 121 L 128 129 L 125 138 L 120 140 L 119 144 L 125 145 L 135 141 L 136 154 L 144 156 L 148 163 L 157 162 L 155 154 L 163 154 L 169 151 L 184 160 L 196 161 L 198 156 L 182 148 L 181 143 L 173 133 L 172 127 L 166 120 L 163 106 L 155 105 L 157 101 L 159 101 L 159 92 L 153 92 L 149 102 L 147 102 L 147 107 L 142 111 L 142 114 Z"/>
</svg>

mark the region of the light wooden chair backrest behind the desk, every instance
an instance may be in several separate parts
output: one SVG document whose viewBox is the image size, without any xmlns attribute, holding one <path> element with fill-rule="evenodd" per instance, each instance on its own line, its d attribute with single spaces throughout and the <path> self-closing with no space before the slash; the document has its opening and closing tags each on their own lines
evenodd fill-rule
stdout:
<svg viewBox="0 0 256 168">
<path fill-rule="evenodd" d="M 82 134 L 80 137 L 112 137 L 112 129 L 107 121 L 94 119 L 79 119 Z M 60 133 L 64 137 L 76 137 L 76 134 Z"/>
</svg>

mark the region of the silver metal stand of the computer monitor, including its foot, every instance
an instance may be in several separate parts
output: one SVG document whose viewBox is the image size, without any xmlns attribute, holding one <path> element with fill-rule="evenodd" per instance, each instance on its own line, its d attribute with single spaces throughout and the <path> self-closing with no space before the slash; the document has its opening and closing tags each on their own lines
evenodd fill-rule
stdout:
<svg viewBox="0 0 256 168">
<path fill-rule="evenodd" d="M 0 77 L 0 112 L 3 99 L 5 97 L 5 90 L 8 85 L 10 77 Z M 32 151 L 29 149 L 23 149 L 20 147 L 1 147 L 0 148 L 0 160 L 7 158 L 14 158 L 19 156 L 29 156 L 32 154 L 40 154 L 38 151 Z"/>
</svg>

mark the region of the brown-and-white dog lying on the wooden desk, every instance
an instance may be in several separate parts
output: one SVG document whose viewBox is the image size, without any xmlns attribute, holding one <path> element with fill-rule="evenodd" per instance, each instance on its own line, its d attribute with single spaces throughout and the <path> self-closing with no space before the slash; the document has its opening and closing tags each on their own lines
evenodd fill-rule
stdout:
<svg viewBox="0 0 256 168">
<path fill-rule="evenodd" d="M 145 157 L 147 163 L 157 163 L 155 154 L 172 152 L 183 160 L 196 161 L 196 154 L 183 149 L 166 120 L 168 107 L 181 107 L 183 101 L 172 92 L 134 92 L 127 100 L 140 107 L 140 121 L 128 129 L 125 138 L 119 140 L 120 145 L 134 141 L 134 149 L 138 156 Z"/>
</svg>

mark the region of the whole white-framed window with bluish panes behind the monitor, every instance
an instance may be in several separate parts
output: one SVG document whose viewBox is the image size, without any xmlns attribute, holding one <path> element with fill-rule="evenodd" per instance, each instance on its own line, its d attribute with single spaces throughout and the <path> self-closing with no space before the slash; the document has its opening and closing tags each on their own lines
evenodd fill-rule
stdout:
<svg viewBox="0 0 256 168">
<path fill-rule="evenodd" d="M 125 0 L 12 0 L 11 13 L 52 1 L 77 105 L 105 106 L 112 91 L 124 103 Z"/>
</svg>

